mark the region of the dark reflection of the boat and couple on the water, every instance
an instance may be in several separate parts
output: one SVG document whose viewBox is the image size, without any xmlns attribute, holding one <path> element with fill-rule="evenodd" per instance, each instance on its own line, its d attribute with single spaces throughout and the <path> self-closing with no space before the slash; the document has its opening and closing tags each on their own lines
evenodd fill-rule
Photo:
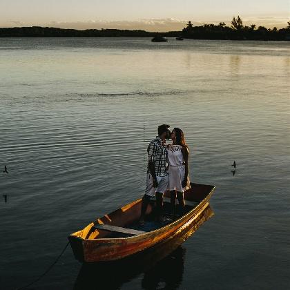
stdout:
<svg viewBox="0 0 290 290">
<path fill-rule="evenodd" d="M 200 219 L 186 233 L 182 232 L 181 235 L 175 235 L 170 240 L 122 260 L 84 263 L 74 290 L 120 289 L 124 283 L 142 273 L 144 276 L 139 289 L 177 288 L 182 282 L 186 253 L 186 249 L 180 245 L 212 216 L 211 206 L 207 206 Z"/>
</svg>

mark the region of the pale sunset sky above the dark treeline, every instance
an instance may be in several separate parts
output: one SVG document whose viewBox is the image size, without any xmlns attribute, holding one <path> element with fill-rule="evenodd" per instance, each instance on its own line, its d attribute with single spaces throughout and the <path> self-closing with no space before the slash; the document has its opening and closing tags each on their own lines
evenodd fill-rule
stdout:
<svg viewBox="0 0 290 290">
<path fill-rule="evenodd" d="M 244 24 L 283 28 L 290 21 L 290 0 L 1 0 L 0 27 L 119 28 L 181 30 L 194 25 L 229 25 L 240 15 Z"/>
</svg>

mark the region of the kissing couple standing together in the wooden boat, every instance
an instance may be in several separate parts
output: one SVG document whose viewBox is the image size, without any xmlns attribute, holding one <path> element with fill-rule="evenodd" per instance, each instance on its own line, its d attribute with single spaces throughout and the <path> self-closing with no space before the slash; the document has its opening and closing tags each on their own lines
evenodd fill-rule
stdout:
<svg viewBox="0 0 290 290">
<path fill-rule="evenodd" d="M 170 126 L 163 124 L 158 127 L 158 136 L 147 148 L 148 170 L 146 189 L 142 197 L 140 224 L 144 224 L 145 213 L 151 197 L 156 197 L 157 220 L 162 218 L 163 194 L 170 191 L 171 206 L 175 213 L 175 201 L 184 207 L 184 191 L 190 188 L 189 181 L 189 148 L 180 128 L 169 130 Z M 172 144 L 166 144 L 166 140 Z"/>
</svg>

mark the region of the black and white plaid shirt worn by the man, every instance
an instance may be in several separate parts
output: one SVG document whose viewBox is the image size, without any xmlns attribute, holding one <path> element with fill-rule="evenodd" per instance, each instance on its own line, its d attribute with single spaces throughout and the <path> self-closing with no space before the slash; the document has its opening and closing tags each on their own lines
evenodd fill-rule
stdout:
<svg viewBox="0 0 290 290">
<path fill-rule="evenodd" d="M 167 147 L 166 143 L 162 142 L 160 137 L 156 137 L 152 140 L 147 148 L 148 153 L 148 162 L 153 162 L 155 166 L 155 174 L 157 176 L 166 176 L 167 173 L 167 164 L 166 164 L 166 157 L 167 157 Z M 148 168 L 148 172 L 149 168 Z"/>
</svg>

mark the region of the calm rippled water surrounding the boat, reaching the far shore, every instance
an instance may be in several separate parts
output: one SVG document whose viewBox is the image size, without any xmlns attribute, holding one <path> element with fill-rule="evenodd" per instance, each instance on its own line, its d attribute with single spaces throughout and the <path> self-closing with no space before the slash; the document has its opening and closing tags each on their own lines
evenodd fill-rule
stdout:
<svg viewBox="0 0 290 290">
<path fill-rule="evenodd" d="M 287 289 L 289 79 L 289 42 L 0 39 L 0 288 L 142 196 L 146 144 L 168 123 L 191 180 L 217 187 L 215 215 L 157 266 L 112 268 L 115 289 Z M 72 289 L 86 271 L 68 248 L 30 289 Z"/>
</svg>

